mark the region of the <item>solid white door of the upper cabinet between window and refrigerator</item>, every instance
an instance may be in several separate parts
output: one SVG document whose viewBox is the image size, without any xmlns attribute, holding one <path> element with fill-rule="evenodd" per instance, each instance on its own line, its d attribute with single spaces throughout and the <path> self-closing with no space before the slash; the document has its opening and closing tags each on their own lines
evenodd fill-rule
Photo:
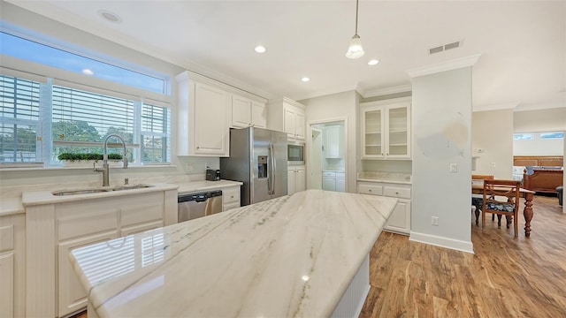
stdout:
<svg viewBox="0 0 566 318">
<path fill-rule="evenodd" d="M 225 91 L 195 83 L 195 154 L 226 155 Z"/>
</svg>

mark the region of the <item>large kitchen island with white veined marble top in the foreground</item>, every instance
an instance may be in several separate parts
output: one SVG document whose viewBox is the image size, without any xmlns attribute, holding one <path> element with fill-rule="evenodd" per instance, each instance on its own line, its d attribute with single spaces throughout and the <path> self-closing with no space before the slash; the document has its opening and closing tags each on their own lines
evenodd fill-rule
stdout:
<svg viewBox="0 0 566 318">
<path fill-rule="evenodd" d="M 71 261 L 89 318 L 352 314 L 396 202 L 307 190 L 80 247 Z"/>
</svg>

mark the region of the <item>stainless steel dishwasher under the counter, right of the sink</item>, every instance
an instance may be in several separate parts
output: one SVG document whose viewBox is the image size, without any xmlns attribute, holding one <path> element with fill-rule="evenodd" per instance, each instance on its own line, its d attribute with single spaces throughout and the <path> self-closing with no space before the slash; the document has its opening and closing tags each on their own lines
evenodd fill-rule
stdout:
<svg viewBox="0 0 566 318">
<path fill-rule="evenodd" d="M 179 194 L 177 197 L 178 222 L 193 220 L 222 212 L 222 191 Z"/>
</svg>

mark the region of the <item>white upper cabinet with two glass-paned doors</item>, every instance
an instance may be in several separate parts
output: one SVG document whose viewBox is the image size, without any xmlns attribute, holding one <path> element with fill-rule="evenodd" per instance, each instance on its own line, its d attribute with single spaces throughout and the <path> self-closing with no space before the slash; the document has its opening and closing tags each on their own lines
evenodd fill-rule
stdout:
<svg viewBox="0 0 566 318">
<path fill-rule="evenodd" d="M 360 104 L 362 159 L 410 159 L 410 97 Z"/>
</svg>

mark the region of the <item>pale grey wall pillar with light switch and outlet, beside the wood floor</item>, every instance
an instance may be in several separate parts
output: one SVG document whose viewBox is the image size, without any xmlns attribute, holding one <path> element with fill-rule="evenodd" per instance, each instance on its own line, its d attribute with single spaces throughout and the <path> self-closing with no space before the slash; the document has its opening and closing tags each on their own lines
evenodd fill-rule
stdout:
<svg viewBox="0 0 566 318">
<path fill-rule="evenodd" d="M 412 87 L 410 239 L 472 252 L 471 67 L 415 77 Z"/>
</svg>

